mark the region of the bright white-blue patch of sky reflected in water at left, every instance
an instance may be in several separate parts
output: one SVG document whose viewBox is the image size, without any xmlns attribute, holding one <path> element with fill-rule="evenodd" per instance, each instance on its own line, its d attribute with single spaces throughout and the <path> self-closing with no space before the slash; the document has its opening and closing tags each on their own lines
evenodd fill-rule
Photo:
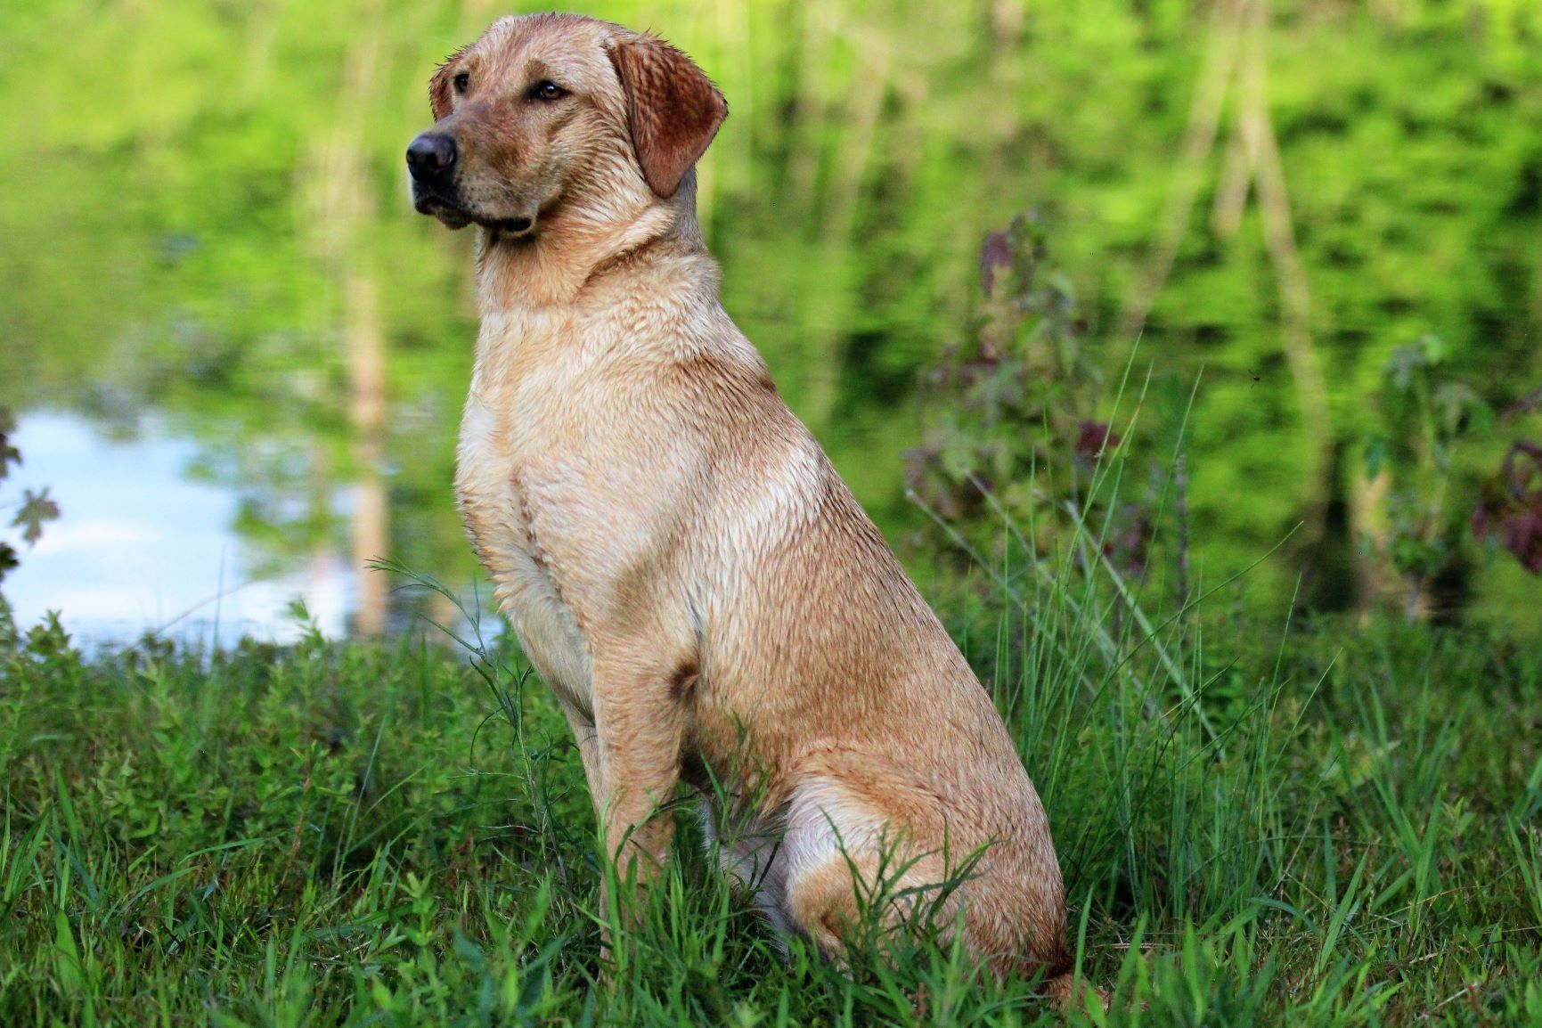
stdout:
<svg viewBox="0 0 1542 1028">
<path fill-rule="evenodd" d="M 350 561 L 322 549 L 287 573 L 256 570 L 261 553 L 234 527 L 241 496 L 190 478 L 199 444 L 159 419 L 114 438 L 77 415 L 31 412 L 15 441 L 26 455 L 17 487 L 48 485 L 62 510 L 6 580 L 19 624 L 54 610 L 88 644 L 142 632 L 288 641 L 305 630 L 299 600 L 322 632 L 347 629 L 361 587 Z"/>
</svg>

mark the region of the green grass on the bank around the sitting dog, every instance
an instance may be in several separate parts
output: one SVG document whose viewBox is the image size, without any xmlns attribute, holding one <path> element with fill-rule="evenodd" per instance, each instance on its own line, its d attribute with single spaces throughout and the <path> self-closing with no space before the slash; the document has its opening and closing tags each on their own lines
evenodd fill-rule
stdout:
<svg viewBox="0 0 1542 1028">
<path fill-rule="evenodd" d="M 1115 993 L 1093 1020 L 1542 1023 L 1542 653 L 1029 572 L 958 633 Z M 689 814 L 603 966 L 578 757 L 498 647 L 86 658 L 39 627 L 0 644 L 0 775 L 6 1025 L 1059 1020 L 925 940 L 783 957 Z"/>
</svg>

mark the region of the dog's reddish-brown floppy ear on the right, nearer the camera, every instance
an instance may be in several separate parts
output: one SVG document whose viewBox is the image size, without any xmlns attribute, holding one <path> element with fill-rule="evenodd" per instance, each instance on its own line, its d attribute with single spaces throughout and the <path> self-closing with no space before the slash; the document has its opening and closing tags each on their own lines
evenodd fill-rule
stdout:
<svg viewBox="0 0 1542 1028">
<path fill-rule="evenodd" d="M 637 163 L 668 199 L 717 136 L 728 102 L 689 57 L 654 35 L 612 43 L 611 63 L 626 91 Z"/>
</svg>

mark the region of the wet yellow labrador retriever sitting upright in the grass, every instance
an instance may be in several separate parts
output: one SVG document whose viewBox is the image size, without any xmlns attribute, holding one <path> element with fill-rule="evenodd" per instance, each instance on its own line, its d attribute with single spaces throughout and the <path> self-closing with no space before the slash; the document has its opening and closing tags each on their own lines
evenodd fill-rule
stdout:
<svg viewBox="0 0 1542 1028">
<path fill-rule="evenodd" d="M 837 956 L 864 903 L 894 925 L 930 905 L 1066 997 L 1012 738 L 719 302 L 692 166 L 723 96 L 663 40 L 540 14 L 495 22 L 430 97 L 413 203 L 478 228 L 460 507 L 621 874 L 666 858 L 683 778 L 779 926 Z"/>
</svg>

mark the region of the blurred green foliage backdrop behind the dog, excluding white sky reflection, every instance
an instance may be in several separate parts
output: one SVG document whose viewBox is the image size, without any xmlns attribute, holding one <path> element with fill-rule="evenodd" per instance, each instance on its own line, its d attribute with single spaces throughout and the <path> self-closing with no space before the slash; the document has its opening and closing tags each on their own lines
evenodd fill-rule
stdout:
<svg viewBox="0 0 1542 1028">
<path fill-rule="evenodd" d="M 0 407 L 196 439 L 242 573 L 464 580 L 470 239 L 401 154 L 507 11 L 6 3 Z M 1180 598 L 1274 550 L 1237 604 L 1536 627 L 1536 0 L 584 11 L 728 96 L 725 304 L 917 573 L 1007 559 L 1002 513 L 1053 546 L 1116 452 L 1104 556 Z M 353 627 L 402 603 L 365 575 Z"/>
</svg>

